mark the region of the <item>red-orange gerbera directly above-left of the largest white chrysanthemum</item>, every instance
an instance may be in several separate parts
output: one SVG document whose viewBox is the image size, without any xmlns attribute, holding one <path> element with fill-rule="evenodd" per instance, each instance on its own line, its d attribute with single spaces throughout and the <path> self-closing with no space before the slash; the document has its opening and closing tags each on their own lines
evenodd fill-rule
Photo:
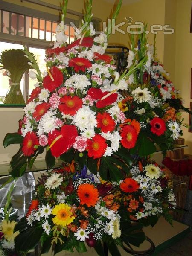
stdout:
<svg viewBox="0 0 192 256">
<path fill-rule="evenodd" d="M 78 96 L 65 95 L 60 99 L 59 110 L 65 115 L 74 116 L 76 111 L 82 107 L 82 100 Z"/>
</svg>

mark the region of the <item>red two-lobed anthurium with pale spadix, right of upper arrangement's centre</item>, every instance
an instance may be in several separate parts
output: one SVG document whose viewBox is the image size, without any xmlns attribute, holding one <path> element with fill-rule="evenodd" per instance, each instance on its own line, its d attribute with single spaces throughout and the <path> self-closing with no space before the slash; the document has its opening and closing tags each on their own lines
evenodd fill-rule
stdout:
<svg viewBox="0 0 192 256">
<path fill-rule="evenodd" d="M 116 102 L 116 99 L 118 97 L 117 93 L 113 93 L 110 96 L 108 96 L 106 99 L 100 100 L 103 96 L 107 95 L 108 93 L 109 92 L 103 93 L 101 89 L 90 88 L 87 94 L 90 95 L 92 99 L 99 99 L 99 101 L 96 102 L 97 108 L 105 108 L 106 106 Z"/>
</svg>

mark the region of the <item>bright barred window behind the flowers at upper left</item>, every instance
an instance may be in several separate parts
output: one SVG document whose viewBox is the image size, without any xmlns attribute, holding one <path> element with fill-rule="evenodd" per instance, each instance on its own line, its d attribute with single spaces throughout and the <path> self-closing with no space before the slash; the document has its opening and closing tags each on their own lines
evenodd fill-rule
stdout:
<svg viewBox="0 0 192 256">
<path fill-rule="evenodd" d="M 45 49 L 49 46 L 50 41 L 55 41 L 55 29 L 58 24 L 59 17 L 50 15 L 36 10 L 19 7 L 15 4 L 8 4 L 0 1 L 0 54 L 5 49 L 23 49 L 23 45 L 33 52 L 36 56 L 41 72 L 46 71 L 45 67 Z M 17 9 L 19 12 L 14 12 Z M 30 12 L 33 14 L 30 15 Z M 79 17 L 78 17 L 79 19 Z M 74 29 L 70 26 L 67 19 L 68 43 L 75 39 Z M 73 20 L 78 23 L 78 20 Z M 32 92 L 35 81 L 30 79 L 28 73 L 23 75 L 21 80 L 21 91 L 25 101 Z M 6 93 L 9 91 L 9 77 L 5 76 L 3 70 L 0 70 L 0 104 L 3 103 Z"/>
</svg>

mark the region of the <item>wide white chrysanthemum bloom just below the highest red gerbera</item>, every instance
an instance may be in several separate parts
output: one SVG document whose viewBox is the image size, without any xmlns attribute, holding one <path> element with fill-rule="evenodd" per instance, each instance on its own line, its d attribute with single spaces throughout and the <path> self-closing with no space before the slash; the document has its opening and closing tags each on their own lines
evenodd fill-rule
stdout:
<svg viewBox="0 0 192 256">
<path fill-rule="evenodd" d="M 91 85 L 91 82 L 87 76 L 75 74 L 65 81 L 65 85 L 83 90 L 84 88 L 87 88 L 89 85 Z"/>
</svg>

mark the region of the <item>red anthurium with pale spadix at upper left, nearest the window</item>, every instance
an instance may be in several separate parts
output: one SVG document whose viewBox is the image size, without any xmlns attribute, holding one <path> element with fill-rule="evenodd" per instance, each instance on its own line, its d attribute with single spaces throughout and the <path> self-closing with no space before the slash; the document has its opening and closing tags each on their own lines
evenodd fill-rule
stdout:
<svg viewBox="0 0 192 256">
<path fill-rule="evenodd" d="M 50 73 L 52 74 L 54 81 L 52 81 L 49 74 L 47 74 L 47 76 L 44 77 L 43 86 L 45 89 L 52 92 L 63 83 L 63 73 L 57 67 L 52 67 Z"/>
</svg>

